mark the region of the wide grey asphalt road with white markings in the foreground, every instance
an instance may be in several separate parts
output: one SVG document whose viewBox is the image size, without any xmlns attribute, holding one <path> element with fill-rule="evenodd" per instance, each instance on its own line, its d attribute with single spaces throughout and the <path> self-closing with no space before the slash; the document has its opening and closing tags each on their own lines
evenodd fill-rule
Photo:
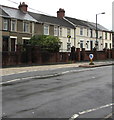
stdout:
<svg viewBox="0 0 114 120">
<path fill-rule="evenodd" d="M 3 76 L 5 118 L 105 118 L 112 112 L 112 66 Z"/>
</svg>

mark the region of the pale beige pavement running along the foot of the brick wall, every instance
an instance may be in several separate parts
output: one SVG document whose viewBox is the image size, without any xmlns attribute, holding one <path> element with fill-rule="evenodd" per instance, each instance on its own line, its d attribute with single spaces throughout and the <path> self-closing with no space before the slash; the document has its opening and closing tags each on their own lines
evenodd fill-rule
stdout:
<svg viewBox="0 0 114 120">
<path fill-rule="evenodd" d="M 8 67 L 8 68 L 1 68 L 0 75 L 11 75 L 11 74 L 18 74 L 24 72 L 32 72 L 32 71 L 43 71 L 43 70 L 52 70 L 52 69 L 59 69 L 59 68 L 68 68 L 68 67 L 100 67 L 100 66 L 107 66 L 114 64 L 113 61 L 95 61 L 94 65 L 89 65 L 90 62 L 77 62 L 77 63 L 70 63 L 70 64 L 56 64 L 56 65 L 36 65 L 36 66 L 24 66 L 24 67 Z"/>
</svg>

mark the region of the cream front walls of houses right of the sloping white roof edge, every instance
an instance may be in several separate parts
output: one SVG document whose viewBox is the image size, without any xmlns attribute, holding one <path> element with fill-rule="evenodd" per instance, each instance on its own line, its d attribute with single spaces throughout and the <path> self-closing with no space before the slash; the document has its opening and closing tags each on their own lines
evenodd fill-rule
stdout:
<svg viewBox="0 0 114 120">
<path fill-rule="evenodd" d="M 83 48 L 86 50 L 91 50 L 91 41 L 93 42 L 93 48 L 95 47 L 95 41 L 96 41 L 96 31 L 92 30 L 92 37 L 91 37 L 91 31 L 90 29 L 88 30 L 88 35 L 87 35 L 87 29 L 83 27 L 83 35 L 80 35 L 80 28 L 82 27 L 76 27 L 76 48 L 80 48 L 80 42 L 83 41 Z M 105 39 L 105 32 L 98 31 L 98 50 L 103 50 L 105 48 L 105 43 L 107 43 L 107 48 L 110 49 L 110 44 L 112 48 L 112 33 L 107 32 L 107 39 Z M 111 34 L 111 37 L 110 37 Z M 87 42 L 89 41 L 89 42 Z M 87 45 L 88 44 L 88 45 Z"/>
</svg>

